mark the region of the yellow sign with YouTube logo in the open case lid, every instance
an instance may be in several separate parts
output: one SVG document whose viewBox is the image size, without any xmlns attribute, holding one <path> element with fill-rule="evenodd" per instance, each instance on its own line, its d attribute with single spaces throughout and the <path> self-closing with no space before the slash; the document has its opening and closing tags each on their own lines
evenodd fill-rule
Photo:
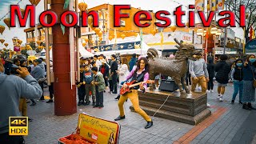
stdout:
<svg viewBox="0 0 256 144">
<path fill-rule="evenodd" d="M 120 125 L 118 122 L 79 114 L 77 133 L 90 142 L 117 144 Z"/>
</svg>

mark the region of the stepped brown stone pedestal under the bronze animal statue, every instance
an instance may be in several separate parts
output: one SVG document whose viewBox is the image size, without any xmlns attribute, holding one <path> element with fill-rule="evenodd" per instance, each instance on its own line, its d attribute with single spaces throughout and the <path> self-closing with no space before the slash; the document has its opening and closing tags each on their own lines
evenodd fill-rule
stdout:
<svg viewBox="0 0 256 144">
<path fill-rule="evenodd" d="M 166 100 L 166 98 L 169 98 Z M 138 92 L 139 105 L 146 114 L 153 115 L 162 106 L 155 117 L 166 118 L 173 121 L 197 125 L 210 116 L 207 109 L 207 94 L 192 93 L 191 96 L 180 95 L 179 92 L 167 92 L 161 90 L 146 90 L 146 93 Z M 134 107 L 130 106 L 134 111 Z"/>
</svg>

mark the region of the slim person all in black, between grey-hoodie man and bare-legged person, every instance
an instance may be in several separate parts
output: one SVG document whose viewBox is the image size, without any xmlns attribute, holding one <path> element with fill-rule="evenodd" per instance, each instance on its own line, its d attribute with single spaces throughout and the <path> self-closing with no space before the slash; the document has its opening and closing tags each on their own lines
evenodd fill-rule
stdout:
<svg viewBox="0 0 256 144">
<path fill-rule="evenodd" d="M 208 59 L 207 70 L 209 74 L 208 91 L 214 92 L 214 76 L 215 76 L 215 65 L 212 58 Z"/>
</svg>

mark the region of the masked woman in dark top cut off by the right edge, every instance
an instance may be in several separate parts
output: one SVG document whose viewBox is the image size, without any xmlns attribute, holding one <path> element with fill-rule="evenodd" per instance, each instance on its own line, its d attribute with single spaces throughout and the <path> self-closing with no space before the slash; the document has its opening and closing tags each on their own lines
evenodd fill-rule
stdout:
<svg viewBox="0 0 256 144">
<path fill-rule="evenodd" d="M 253 86 L 255 78 L 255 55 L 251 54 L 246 58 L 243 67 L 243 96 L 242 108 L 246 110 L 256 110 L 251 106 L 251 102 L 255 102 L 255 88 Z"/>
</svg>

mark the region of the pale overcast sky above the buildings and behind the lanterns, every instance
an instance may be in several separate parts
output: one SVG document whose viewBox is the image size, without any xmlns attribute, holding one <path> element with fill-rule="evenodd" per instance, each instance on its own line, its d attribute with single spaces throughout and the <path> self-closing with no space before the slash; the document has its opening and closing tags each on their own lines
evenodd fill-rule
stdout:
<svg viewBox="0 0 256 144">
<path fill-rule="evenodd" d="M 17 4 L 19 0 L 0 0 L 0 18 L 2 18 L 8 11 L 10 11 L 10 5 Z M 178 3 L 182 3 L 182 10 L 188 11 L 188 8 L 185 6 L 188 6 L 189 4 L 194 4 L 194 0 L 79 0 L 79 2 L 86 2 L 88 5 L 88 8 L 98 6 L 104 3 L 110 3 L 110 4 L 130 4 L 133 7 L 141 7 L 142 10 L 154 10 L 154 12 L 158 10 L 168 10 L 170 11 L 170 14 L 173 14 L 174 9 L 177 6 L 180 6 Z M 178 2 L 178 3 L 177 3 Z M 25 9 L 26 5 L 30 5 L 29 0 L 22 0 L 20 2 L 20 7 Z M 43 0 L 38 4 L 36 7 L 36 20 L 38 23 L 38 16 L 41 14 L 43 11 Z M 7 17 L 10 17 L 10 14 L 7 15 Z M 6 18 L 7 18 L 6 17 Z M 174 23 L 174 16 L 171 15 L 170 18 L 172 19 L 172 23 Z M 187 22 L 187 17 L 183 17 L 183 22 Z M 198 18 L 196 22 L 198 21 Z M 6 26 L 2 21 L 0 21 L 0 25 Z M 174 25 L 174 24 L 172 24 Z M 28 26 L 28 23 L 27 23 Z M 10 46 L 12 45 L 12 38 L 18 37 L 19 39 L 22 39 L 23 42 L 26 42 L 26 34 L 24 33 L 24 28 L 11 28 L 10 30 L 6 26 L 6 30 L 3 33 L 3 35 L 0 35 L 0 38 L 6 39 L 6 42 L 9 43 Z M 236 37 L 242 38 L 242 29 L 237 27 L 234 29 L 236 31 Z M 0 47 L 2 44 L 0 43 Z"/>
</svg>

